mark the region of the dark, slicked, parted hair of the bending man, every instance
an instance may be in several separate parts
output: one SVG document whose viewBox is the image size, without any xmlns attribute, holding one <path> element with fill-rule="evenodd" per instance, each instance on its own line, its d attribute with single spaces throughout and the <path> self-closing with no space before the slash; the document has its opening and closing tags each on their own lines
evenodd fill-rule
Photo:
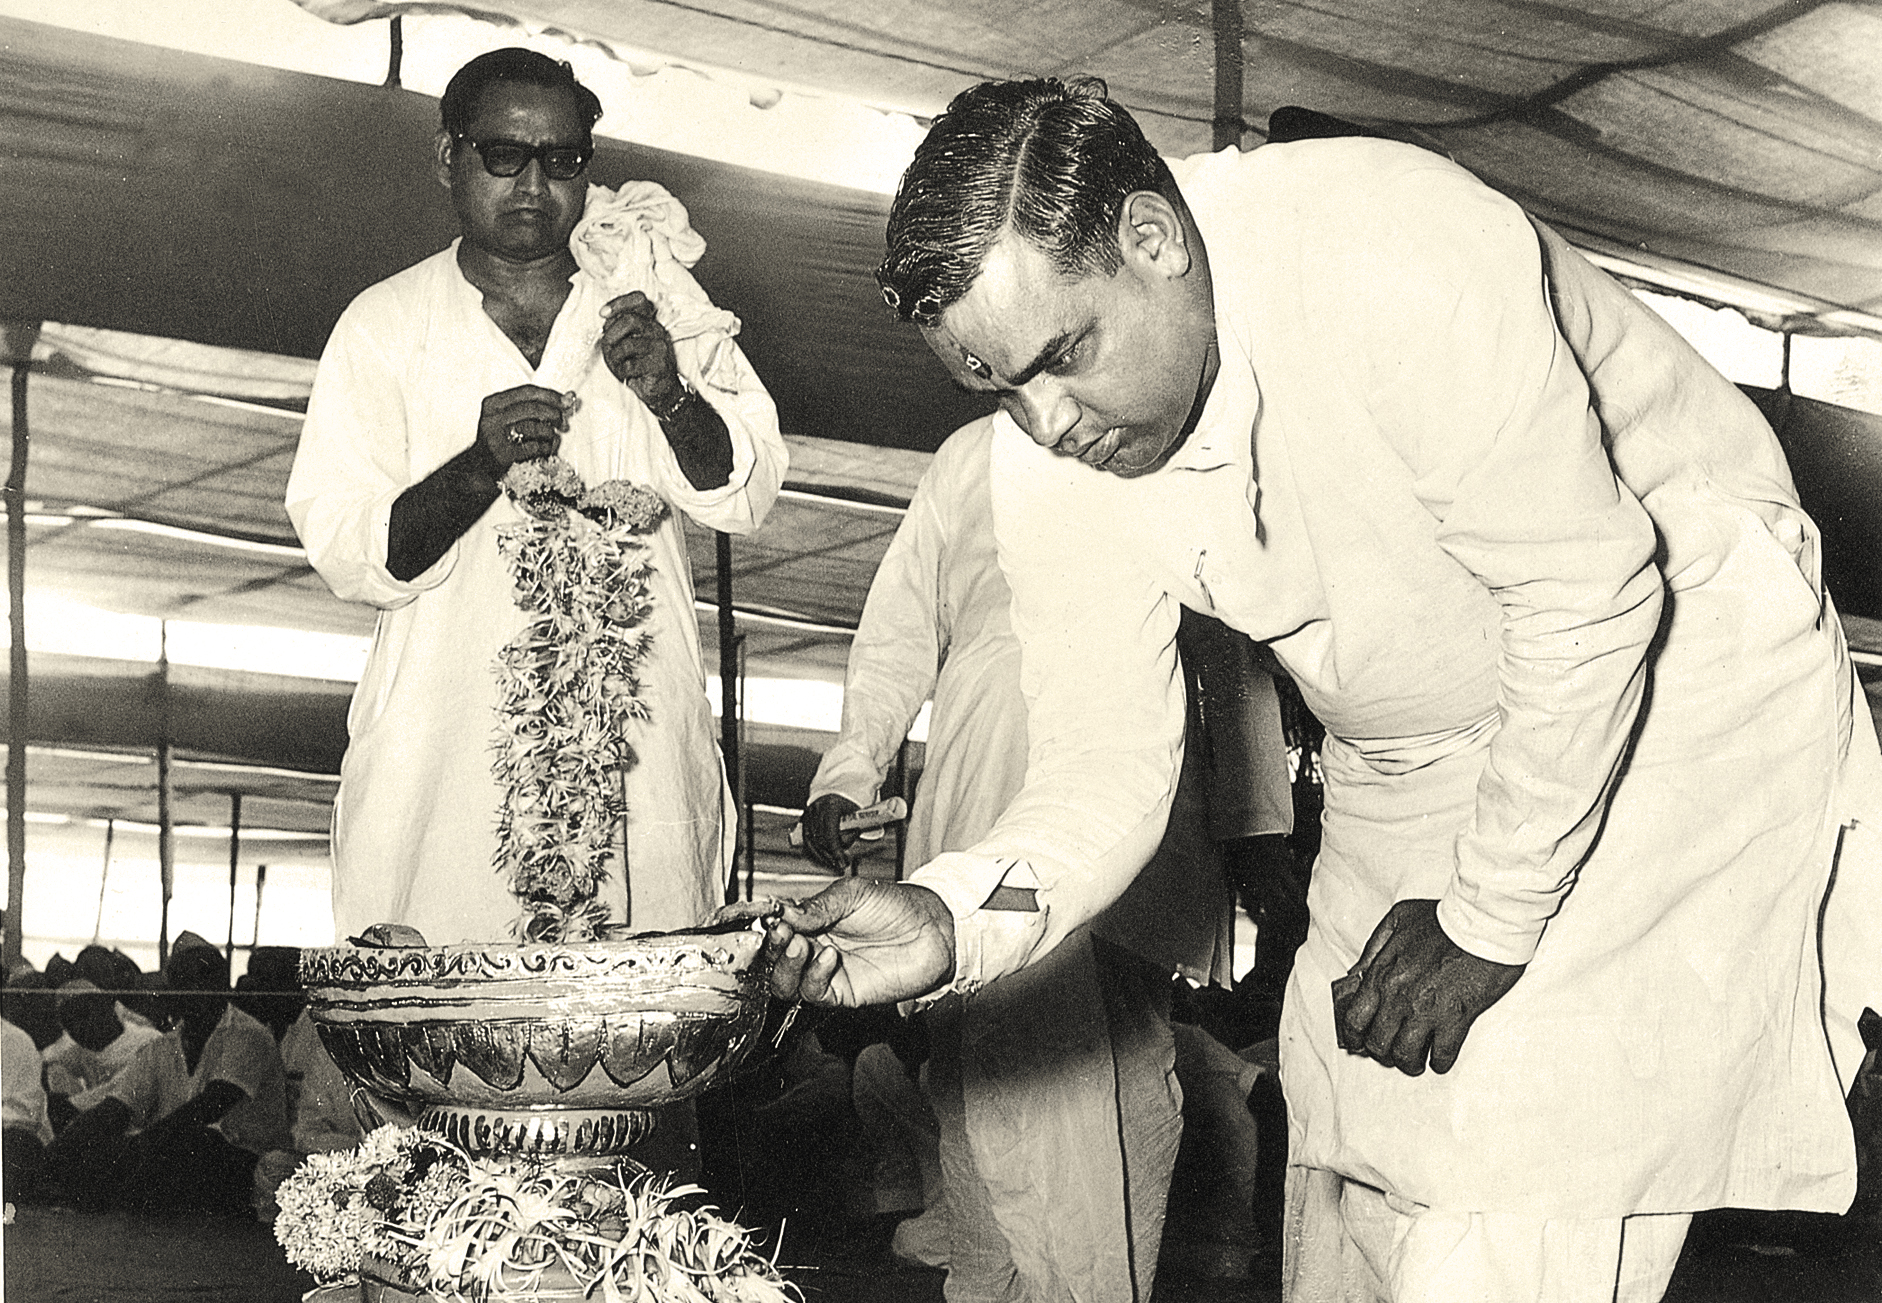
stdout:
<svg viewBox="0 0 1882 1303">
<path fill-rule="evenodd" d="M 1174 200 L 1176 181 L 1097 77 L 962 90 L 888 209 L 883 299 L 901 320 L 933 326 L 1007 230 L 1063 275 L 1110 275 L 1122 265 L 1118 215 L 1137 190 Z"/>
</svg>

